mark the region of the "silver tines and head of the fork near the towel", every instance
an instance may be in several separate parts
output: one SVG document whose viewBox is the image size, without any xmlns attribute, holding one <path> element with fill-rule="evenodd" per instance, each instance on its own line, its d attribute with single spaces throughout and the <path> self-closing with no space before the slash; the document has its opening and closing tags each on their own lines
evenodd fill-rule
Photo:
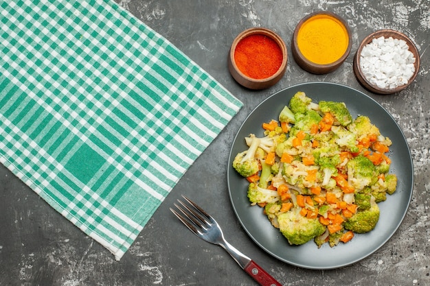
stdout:
<svg viewBox="0 0 430 286">
<path fill-rule="evenodd" d="M 185 199 L 188 204 L 185 204 L 185 202 L 182 202 L 181 200 L 178 200 L 179 204 L 174 204 L 174 206 L 177 207 L 177 209 L 183 214 L 175 211 L 174 209 L 170 208 L 170 211 L 176 215 L 176 217 L 183 223 L 185 226 L 187 226 L 193 233 L 201 233 L 202 229 L 206 229 L 205 226 L 210 224 L 209 220 L 212 220 L 212 217 L 207 214 L 203 209 L 198 206 L 196 203 L 192 202 L 192 200 L 186 198 L 184 195 L 182 197 Z M 184 217 L 185 216 L 185 217 Z"/>
</svg>

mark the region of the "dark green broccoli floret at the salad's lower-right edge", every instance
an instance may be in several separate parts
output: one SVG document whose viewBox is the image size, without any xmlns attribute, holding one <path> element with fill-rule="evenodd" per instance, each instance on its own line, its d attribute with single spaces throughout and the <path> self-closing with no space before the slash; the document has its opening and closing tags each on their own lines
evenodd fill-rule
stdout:
<svg viewBox="0 0 430 286">
<path fill-rule="evenodd" d="M 379 207 L 372 201 L 371 206 L 366 211 L 358 211 L 346 220 L 343 226 L 354 233 L 368 233 L 374 229 L 379 220 Z"/>
</svg>

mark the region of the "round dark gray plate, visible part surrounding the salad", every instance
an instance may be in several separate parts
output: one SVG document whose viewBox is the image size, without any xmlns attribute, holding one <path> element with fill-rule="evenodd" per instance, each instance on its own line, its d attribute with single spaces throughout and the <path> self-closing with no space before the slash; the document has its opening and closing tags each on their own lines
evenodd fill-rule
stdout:
<svg viewBox="0 0 430 286">
<path fill-rule="evenodd" d="M 238 152 L 247 150 L 245 136 L 250 133 L 263 136 L 261 124 L 271 119 L 278 119 L 278 115 L 284 105 L 288 104 L 291 97 L 297 91 L 304 91 L 313 99 L 313 102 L 328 100 L 345 102 L 352 117 L 367 115 L 370 117 L 384 136 L 393 141 L 390 147 L 389 158 L 392 159 L 390 172 L 398 176 L 397 190 L 393 195 L 387 195 L 387 200 L 378 206 L 381 208 L 381 216 L 376 228 L 370 233 L 355 235 L 348 243 L 340 243 L 330 248 L 328 243 L 317 248 L 313 241 L 302 246 L 290 246 L 278 229 L 262 213 L 260 206 L 250 206 L 247 198 L 248 182 L 231 167 L 234 156 Z M 261 130 L 261 131 L 260 131 Z M 286 263 L 309 269 L 333 269 L 355 263 L 383 246 L 394 235 L 398 226 L 403 221 L 414 186 L 414 169 L 411 153 L 405 135 L 394 121 L 389 112 L 371 97 L 348 86 L 327 82 L 312 82 L 298 84 L 285 88 L 271 97 L 265 99 L 247 117 L 239 129 L 231 147 L 227 182 L 229 196 L 236 216 L 249 237 L 258 246 L 273 257 Z"/>
</svg>

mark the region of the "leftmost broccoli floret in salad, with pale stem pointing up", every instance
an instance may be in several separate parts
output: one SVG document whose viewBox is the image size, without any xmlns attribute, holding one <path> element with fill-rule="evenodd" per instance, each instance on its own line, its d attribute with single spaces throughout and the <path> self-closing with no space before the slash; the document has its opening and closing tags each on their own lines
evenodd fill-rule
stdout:
<svg viewBox="0 0 430 286">
<path fill-rule="evenodd" d="M 251 134 L 251 143 L 248 150 L 240 152 L 234 157 L 233 167 L 243 177 L 249 177 L 258 172 L 258 159 L 256 158 L 256 151 L 260 145 L 260 139 Z"/>
</svg>

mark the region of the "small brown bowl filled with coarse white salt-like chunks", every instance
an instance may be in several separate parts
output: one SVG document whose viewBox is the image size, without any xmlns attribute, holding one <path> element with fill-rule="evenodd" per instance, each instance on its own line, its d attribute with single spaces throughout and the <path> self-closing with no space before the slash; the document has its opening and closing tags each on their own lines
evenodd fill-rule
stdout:
<svg viewBox="0 0 430 286">
<path fill-rule="evenodd" d="M 420 54 L 405 34 L 381 29 L 365 37 L 354 56 L 354 73 L 373 93 L 398 93 L 414 82 Z"/>
</svg>

